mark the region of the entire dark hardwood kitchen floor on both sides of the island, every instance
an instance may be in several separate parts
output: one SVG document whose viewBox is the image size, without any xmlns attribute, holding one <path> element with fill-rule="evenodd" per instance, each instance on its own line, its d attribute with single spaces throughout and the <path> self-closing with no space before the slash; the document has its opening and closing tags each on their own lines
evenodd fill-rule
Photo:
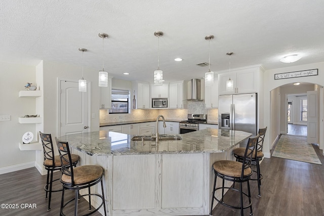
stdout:
<svg viewBox="0 0 324 216">
<path fill-rule="evenodd" d="M 322 151 L 314 149 L 324 164 Z M 258 197 L 256 181 L 251 181 L 252 206 L 254 215 L 324 215 L 324 167 L 318 164 L 282 159 L 264 158 L 261 163 L 263 174 L 261 195 Z M 56 172 L 58 178 L 60 172 Z M 47 211 L 43 189 L 46 176 L 41 176 L 36 168 L 28 168 L 0 175 L 0 203 L 18 204 L 18 209 L 0 208 L 0 215 L 59 215 L 61 192 L 53 193 L 51 211 Z M 236 185 L 238 186 L 238 184 Z M 235 186 L 235 187 L 236 187 Z M 67 197 L 73 197 L 67 191 Z M 237 194 L 228 193 L 226 199 L 237 201 Z M 21 204 L 36 204 L 36 208 L 21 208 Z M 79 214 L 88 213 L 88 202 L 81 200 Z M 73 214 L 72 206 L 67 209 Z M 245 209 L 245 215 L 249 215 Z M 96 212 L 93 215 L 100 215 Z M 239 210 L 218 204 L 213 215 L 240 215 Z"/>
</svg>

